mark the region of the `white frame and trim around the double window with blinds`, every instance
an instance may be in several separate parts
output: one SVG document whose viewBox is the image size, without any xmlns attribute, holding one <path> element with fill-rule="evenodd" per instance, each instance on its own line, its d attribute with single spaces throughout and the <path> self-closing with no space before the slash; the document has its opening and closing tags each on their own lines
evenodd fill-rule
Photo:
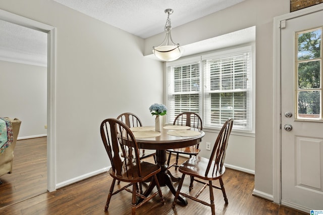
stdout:
<svg viewBox="0 0 323 215">
<path fill-rule="evenodd" d="M 239 53 L 243 53 L 243 52 L 250 52 L 250 70 L 249 70 L 249 74 L 248 74 L 248 79 L 250 79 L 248 81 L 249 83 L 249 89 L 247 90 L 249 92 L 249 104 L 247 104 L 247 108 L 249 108 L 247 110 L 247 114 L 249 114 L 248 118 L 249 118 L 249 129 L 241 129 L 238 128 L 237 126 L 233 126 L 233 132 L 234 133 L 240 133 L 242 135 L 246 135 L 246 136 L 253 136 L 254 135 L 254 124 L 255 124 L 255 111 L 254 111 L 254 107 L 255 107 L 255 43 L 249 43 L 249 44 L 244 44 L 241 46 L 234 46 L 231 48 L 227 48 L 227 49 L 222 49 L 222 50 L 216 50 L 213 52 L 209 52 L 209 53 L 200 53 L 196 56 L 193 57 L 188 57 L 188 58 L 181 58 L 179 60 L 176 61 L 172 61 L 172 62 L 167 62 L 166 63 L 166 104 L 167 106 L 169 106 L 169 95 L 170 95 L 170 85 L 171 85 L 171 68 L 175 67 L 175 66 L 181 66 L 181 65 L 185 65 L 185 64 L 191 64 L 194 62 L 199 62 L 200 65 L 200 91 L 199 91 L 199 115 L 201 116 L 202 120 L 203 120 L 203 130 L 206 131 L 211 131 L 214 132 L 216 130 L 220 130 L 221 126 L 214 126 L 214 125 L 209 125 L 207 123 L 204 123 L 204 121 L 206 122 L 206 114 L 207 114 L 207 108 L 206 108 L 206 103 L 205 103 L 205 95 L 208 94 L 208 92 L 206 93 L 205 91 L 205 74 L 206 71 L 204 71 L 204 63 L 206 61 L 206 59 L 211 59 L 211 58 L 222 58 L 222 57 L 230 57 L 232 55 L 237 55 Z M 174 81 L 174 80 L 173 80 Z M 174 82 L 173 82 L 174 83 Z M 240 92 L 240 91 L 239 91 Z M 248 100 L 248 99 L 247 99 Z M 248 102 L 248 101 L 247 101 Z M 167 120 L 166 120 L 167 124 L 173 124 L 173 121 L 170 117 L 170 114 L 167 115 Z"/>
</svg>

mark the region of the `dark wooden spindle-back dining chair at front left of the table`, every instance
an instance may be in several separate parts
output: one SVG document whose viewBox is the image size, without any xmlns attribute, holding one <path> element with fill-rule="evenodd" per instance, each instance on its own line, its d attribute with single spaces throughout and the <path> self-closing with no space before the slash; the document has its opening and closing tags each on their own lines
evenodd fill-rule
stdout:
<svg viewBox="0 0 323 215">
<path fill-rule="evenodd" d="M 100 125 L 100 134 L 105 151 L 111 162 L 112 167 L 110 168 L 109 172 L 110 176 L 113 178 L 104 211 L 107 211 L 111 197 L 122 190 L 132 193 L 132 214 L 135 214 L 138 207 L 149 201 L 157 194 L 159 194 L 160 201 L 165 204 L 165 200 L 156 177 L 156 174 L 160 172 L 160 167 L 156 164 L 151 164 L 140 160 L 137 141 L 130 128 L 122 121 L 110 118 L 102 121 Z M 125 155 L 127 159 L 120 156 L 120 142 L 122 143 L 122 152 L 129 152 L 128 155 Z M 142 191 L 138 192 L 137 184 L 141 184 L 151 177 L 156 184 L 157 191 L 145 197 L 142 195 Z M 116 180 L 128 183 L 126 186 L 114 192 Z M 128 188 L 130 186 L 132 186 L 132 190 Z M 138 204 L 136 200 L 137 197 L 143 199 Z"/>
</svg>

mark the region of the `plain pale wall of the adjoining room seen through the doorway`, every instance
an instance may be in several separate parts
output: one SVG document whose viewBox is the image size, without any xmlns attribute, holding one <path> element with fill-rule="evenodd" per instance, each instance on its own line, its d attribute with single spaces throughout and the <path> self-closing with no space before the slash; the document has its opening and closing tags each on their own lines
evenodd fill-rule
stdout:
<svg viewBox="0 0 323 215">
<path fill-rule="evenodd" d="M 45 136 L 47 68 L 0 60 L 0 116 L 22 121 L 18 138 Z"/>
</svg>

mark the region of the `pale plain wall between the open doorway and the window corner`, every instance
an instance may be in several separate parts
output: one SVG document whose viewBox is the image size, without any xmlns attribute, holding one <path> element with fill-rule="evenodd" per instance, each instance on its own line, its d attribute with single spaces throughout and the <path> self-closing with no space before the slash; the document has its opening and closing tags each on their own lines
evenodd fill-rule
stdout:
<svg viewBox="0 0 323 215">
<path fill-rule="evenodd" d="M 125 111 L 152 124 L 163 101 L 163 65 L 143 57 L 143 39 L 53 1 L 0 1 L 0 9 L 57 28 L 56 182 L 110 165 L 99 135 L 105 118 Z"/>
</svg>

